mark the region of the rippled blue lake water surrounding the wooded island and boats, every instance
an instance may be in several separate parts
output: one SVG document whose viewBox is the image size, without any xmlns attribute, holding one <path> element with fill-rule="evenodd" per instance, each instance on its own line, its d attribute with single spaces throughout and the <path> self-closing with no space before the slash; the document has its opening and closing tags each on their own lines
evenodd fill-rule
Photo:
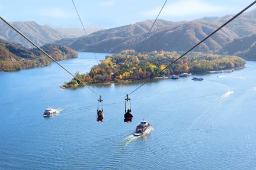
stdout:
<svg viewBox="0 0 256 170">
<path fill-rule="evenodd" d="M 97 61 L 79 53 L 60 63 L 75 74 Z M 141 81 L 90 86 L 104 99 L 98 123 L 98 96 L 60 89 L 72 77 L 57 64 L 0 72 L 0 169 L 256 169 L 256 62 L 246 66 L 147 83 L 129 96 L 132 123 L 124 96 Z M 48 105 L 59 115 L 43 117 Z M 135 138 L 143 118 L 154 130 Z"/>
</svg>

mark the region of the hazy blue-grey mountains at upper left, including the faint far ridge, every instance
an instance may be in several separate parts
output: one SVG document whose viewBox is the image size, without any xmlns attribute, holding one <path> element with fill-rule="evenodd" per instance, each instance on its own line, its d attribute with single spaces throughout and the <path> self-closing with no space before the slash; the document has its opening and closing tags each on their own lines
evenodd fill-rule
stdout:
<svg viewBox="0 0 256 170">
<path fill-rule="evenodd" d="M 10 22 L 17 30 L 21 31 L 30 40 L 35 42 L 37 45 L 53 44 L 54 41 L 60 40 L 62 38 L 77 38 L 85 35 L 82 28 L 52 28 L 49 25 L 40 25 L 35 21 L 21 21 L 21 22 Z M 12 28 L 5 24 L 0 19 L 0 38 L 2 40 L 20 43 L 24 47 L 34 47 L 27 40 L 25 40 L 21 35 L 17 34 Z M 98 30 L 103 30 L 99 27 L 89 27 L 86 28 L 87 33 L 95 32 Z"/>
</svg>

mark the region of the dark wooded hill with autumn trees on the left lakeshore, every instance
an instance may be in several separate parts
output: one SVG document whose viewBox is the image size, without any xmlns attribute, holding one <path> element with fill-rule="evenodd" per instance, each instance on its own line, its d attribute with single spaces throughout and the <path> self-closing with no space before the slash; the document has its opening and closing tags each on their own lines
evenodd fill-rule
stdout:
<svg viewBox="0 0 256 170">
<path fill-rule="evenodd" d="M 62 45 L 44 45 L 41 47 L 55 60 L 78 57 L 71 48 Z M 0 39 L 0 71 L 16 71 L 26 68 L 49 65 L 52 60 L 37 48 L 24 48 L 20 44 Z"/>
</svg>

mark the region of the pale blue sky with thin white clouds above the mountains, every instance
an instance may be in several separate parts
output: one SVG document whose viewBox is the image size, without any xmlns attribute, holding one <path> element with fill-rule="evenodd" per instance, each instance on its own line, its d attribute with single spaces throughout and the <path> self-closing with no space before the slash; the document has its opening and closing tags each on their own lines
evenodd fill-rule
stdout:
<svg viewBox="0 0 256 170">
<path fill-rule="evenodd" d="M 155 19 L 165 0 L 73 0 L 85 27 L 113 28 Z M 168 0 L 159 18 L 169 21 L 236 14 L 254 0 Z M 251 9 L 256 8 L 252 6 Z M 81 28 L 72 0 L 0 0 L 1 17 L 53 28 Z"/>
</svg>

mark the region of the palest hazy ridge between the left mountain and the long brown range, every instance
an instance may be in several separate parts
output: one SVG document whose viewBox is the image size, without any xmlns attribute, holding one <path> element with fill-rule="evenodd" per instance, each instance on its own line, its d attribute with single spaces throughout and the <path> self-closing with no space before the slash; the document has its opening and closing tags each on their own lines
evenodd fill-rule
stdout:
<svg viewBox="0 0 256 170">
<path fill-rule="evenodd" d="M 60 32 L 63 35 L 67 35 L 68 37 L 78 38 L 85 35 L 84 28 L 56 28 L 56 31 Z M 85 28 L 87 34 L 91 34 L 96 31 L 104 30 L 102 27 L 88 27 Z"/>
</svg>

